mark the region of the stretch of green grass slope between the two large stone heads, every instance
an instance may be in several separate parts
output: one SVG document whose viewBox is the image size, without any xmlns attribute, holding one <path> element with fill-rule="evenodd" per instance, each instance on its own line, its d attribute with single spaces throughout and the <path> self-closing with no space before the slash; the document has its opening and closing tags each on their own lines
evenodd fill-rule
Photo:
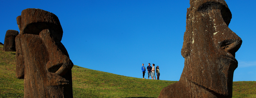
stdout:
<svg viewBox="0 0 256 98">
<path fill-rule="evenodd" d="M 132 78 L 79 66 L 74 66 L 73 69 L 74 97 L 156 98 L 163 87 L 176 82 Z"/>
</svg>

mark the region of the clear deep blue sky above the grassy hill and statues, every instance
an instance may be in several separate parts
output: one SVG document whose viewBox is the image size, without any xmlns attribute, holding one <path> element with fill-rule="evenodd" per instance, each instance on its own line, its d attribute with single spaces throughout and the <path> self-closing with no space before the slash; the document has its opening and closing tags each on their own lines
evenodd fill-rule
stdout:
<svg viewBox="0 0 256 98">
<path fill-rule="evenodd" d="M 243 40 L 234 81 L 256 81 L 256 0 L 226 0 L 229 28 Z M 74 65 L 142 78 L 141 64 L 159 65 L 161 80 L 178 81 L 189 0 L 1 0 L 0 42 L 17 30 L 26 8 L 58 16 L 62 43 Z M 146 74 L 145 77 L 148 77 Z"/>
</svg>

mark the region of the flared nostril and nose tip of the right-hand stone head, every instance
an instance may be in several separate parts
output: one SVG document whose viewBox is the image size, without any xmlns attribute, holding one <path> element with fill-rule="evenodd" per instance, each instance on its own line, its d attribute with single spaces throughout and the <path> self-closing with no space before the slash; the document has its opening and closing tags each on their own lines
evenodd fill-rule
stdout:
<svg viewBox="0 0 256 98">
<path fill-rule="evenodd" d="M 223 49 L 226 52 L 229 52 L 230 54 L 235 57 L 236 52 L 242 45 L 242 40 L 241 39 L 228 39 L 224 40 L 220 43 L 221 49 Z"/>
</svg>

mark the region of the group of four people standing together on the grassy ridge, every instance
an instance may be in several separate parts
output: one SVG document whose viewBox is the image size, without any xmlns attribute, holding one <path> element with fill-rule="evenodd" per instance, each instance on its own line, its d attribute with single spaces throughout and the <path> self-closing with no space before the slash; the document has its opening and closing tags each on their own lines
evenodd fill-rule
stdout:
<svg viewBox="0 0 256 98">
<path fill-rule="evenodd" d="M 157 80 L 159 80 L 159 77 L 160 77 L 160 70 L 159 70 L 159 66 L 156 66 L 155 68 L 155 64 L 152 64 L 153 67 L 150 66 L 150 63 L 148 63 L 148 67 L 147 67 L 147 70 L 148 70 L 148 79 L 149 79 L 149 76 L 151 76 L 152 79 L 154 79 L 155 77 L 155 72 L 156 72 L 156 75 L 157 75 Z M 141 71 L 143 73 L 143 79 L 144 76 L 145 76 L 145 73 L 146 73 L 146 68 L 144 67 L 144 64 L 142 63 L 142 67 L 141 67 Z M 156 79 L 156 78 L 155 78 Z"/>
</svg>

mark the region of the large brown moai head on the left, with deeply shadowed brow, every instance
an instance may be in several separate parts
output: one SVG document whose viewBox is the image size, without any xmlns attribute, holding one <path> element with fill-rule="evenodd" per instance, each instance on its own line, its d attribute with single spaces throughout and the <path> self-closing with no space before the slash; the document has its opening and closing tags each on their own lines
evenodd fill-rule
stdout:
<svg viewBox="0 0 256 98">
<path fill-rule="evenodd" d="M 24 98 L 73 98 L 72 61 L 62 45 L 62 27 L 53 13 L 28 8 L 17 17 L 16 77 Z"/>
</svg>

